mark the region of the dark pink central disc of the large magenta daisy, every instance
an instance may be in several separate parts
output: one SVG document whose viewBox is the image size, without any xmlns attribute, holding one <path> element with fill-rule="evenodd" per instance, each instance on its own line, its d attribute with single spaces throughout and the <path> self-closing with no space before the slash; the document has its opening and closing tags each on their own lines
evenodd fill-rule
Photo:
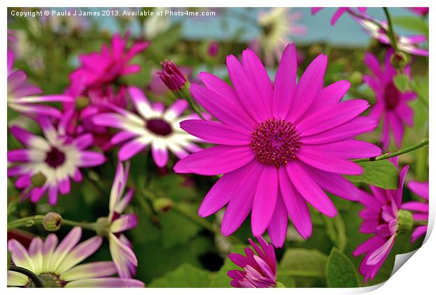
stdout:
<svg viewBox="0 0 436 295">
<path fill-rule="evenodd" d="M 250 147 L 257 161 L 277 168 L 295 159 L 301 145 L 295 126 L 283 119 L 267 119 L 251 133 Z"/>
</svg>

